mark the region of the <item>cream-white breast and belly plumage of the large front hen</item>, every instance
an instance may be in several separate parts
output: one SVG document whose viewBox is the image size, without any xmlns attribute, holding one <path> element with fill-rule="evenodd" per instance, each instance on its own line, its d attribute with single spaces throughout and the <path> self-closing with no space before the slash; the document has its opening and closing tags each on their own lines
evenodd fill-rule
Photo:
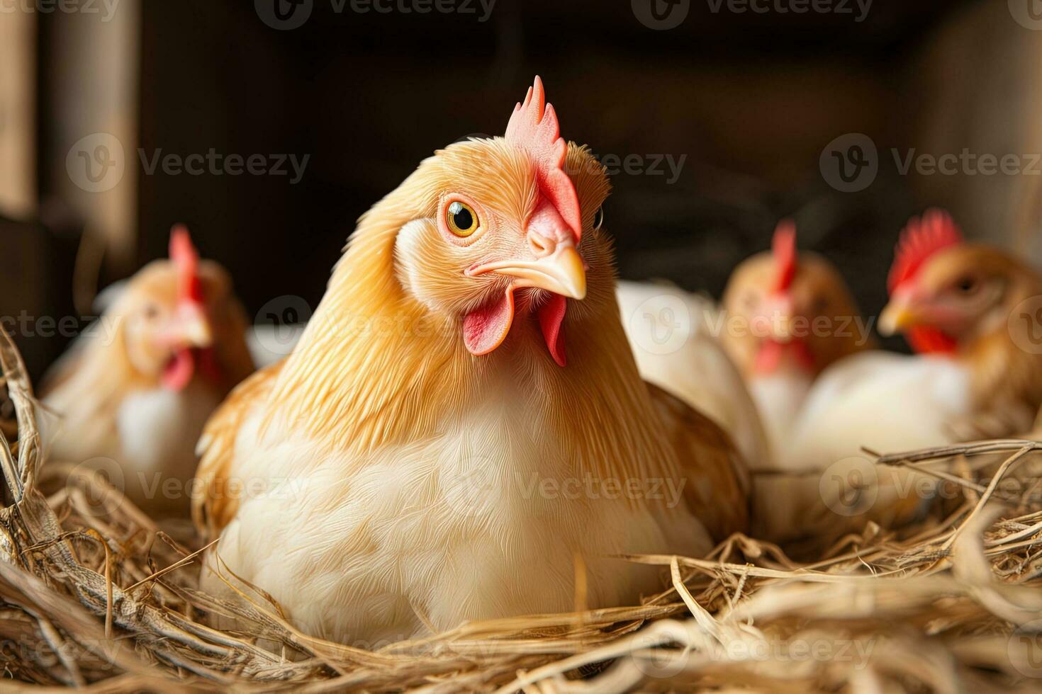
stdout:
<svg viewBox="0 0 1042 694">
<path fill-rule="evenodd" d="M 490 388 L 490 392 L 495 392 Z M 490 396 L 444 434 L 365 460 L 317 455 L 259 416 L 238 435 L 232 478 L 247 467 L 268 489 L 245 499 L 218 545 L 222 561 L 269 591 L 301 628 L 374 647 L 466 619 L 570 611 L 574 551 L 586 556 L 590 603 L 659 590 L 659 571 L 607 556 L 689 551 L 712 543 L 684 510 L 666 518 L 622 499 L 545 493 L 574 478 L 530 412 Z M 277 441 L 290 439 L 293 442 Z M 209 560 L 213 566 L 213 558 Z M 224 590 L 204 570 L 203 587 Z"/>
</svg>

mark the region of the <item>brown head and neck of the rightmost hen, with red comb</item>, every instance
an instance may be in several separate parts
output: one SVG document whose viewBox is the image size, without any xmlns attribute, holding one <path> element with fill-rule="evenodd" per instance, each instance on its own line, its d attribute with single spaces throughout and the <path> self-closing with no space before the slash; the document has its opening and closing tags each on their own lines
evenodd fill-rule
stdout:
<svg viewBox="0 0 1042 694">
<path fill-rule="evenodd" d="M 1006 251 L 965 242 L 940 210 L 913 220 L 889 278 L 879 331 L 968 375 L 959 438 L 1031 428 L 1042 406 L 1042 277 Z"/>
</svg>

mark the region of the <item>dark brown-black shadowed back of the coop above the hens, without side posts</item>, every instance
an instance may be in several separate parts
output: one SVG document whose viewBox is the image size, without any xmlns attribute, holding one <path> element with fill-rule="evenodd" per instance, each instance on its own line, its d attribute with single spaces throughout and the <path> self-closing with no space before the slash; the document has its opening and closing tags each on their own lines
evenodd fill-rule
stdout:
<svg viewBox="0 0 1042 694">
<path fill-rule="evenodd" d="M 989 30 L 952 49 L 945 32 L 977 25 L 983 4 L 875 0 L 855 22 L 853 0 L 852 15 L 734 12 L 726 4 L 714 12 L 692 0 L 680 26 L 653 30 L 628 0 L 498 0 L 486 22 L 476 1 L 474 14 L 420 15 L 350 5 L 337 12 L 330 0 L 314 0 L 303 26 L 276 30 L 252 0 L 145 0 L 135 147 L 309 160 L 291 185 L 288 176 L 144 175 L 128 151 L 128 165 L 139 166 L 137 237 L 119 241 L 130 261 L 109 258 L 101 284 L 165 255 L 171 225 L 185 222 L 202 254 L 232 272 L 251 314 L 281 294 L 314 306 L 354 220 L 435 149 L 501 134 L 540 74 L 566 138 L 601 156 L 686 156 L 673 183 L 668 172 L 614 176 L 605 228 L 623 277 L 718 294 L 734 265 L 767 248 L 779 219 L 794 216 L 800 246 L 838 263 L 863 310 L 875 313 L 903 223 L 924 207 L 958 204 L 962 194 L 945 181 L 920 185 L 892 165 L 866 190 L 840 192 L 818 158 L 847 132 L 868 133 L 880 151 L 914 146 L 939 110 L 969 110 L 945 100 L 943 87 L 988 73 L 967 72 L 968 58 L 951 68 L 943 55 L 976 51 L 987 65 L 1003 34 Z M 48 75 L 65 69 L 53 57 L 60 21 L 40 18 L 43 120 L 54 109 Z M 1009 15 L 995 22 L 1028 31 Z M 46 128 L 39 137 L 40 216 L 45 228 L 66 228 L 58 235 L 68 239 L 75 206 L 63 205 L 48 173 L 66 146 Z M 968 231 L 989 233 L 972 224 Z M 55 260 L 66 247 L 54 247 Z M 68 262 L 46 272 L 68 275 Z M 57 282 L 48 284 L 65 286 Z M 60 300 L 41 302 L 60 310 Z M 58 346 L 49 342 L 41 354 Z"/>
</svg>

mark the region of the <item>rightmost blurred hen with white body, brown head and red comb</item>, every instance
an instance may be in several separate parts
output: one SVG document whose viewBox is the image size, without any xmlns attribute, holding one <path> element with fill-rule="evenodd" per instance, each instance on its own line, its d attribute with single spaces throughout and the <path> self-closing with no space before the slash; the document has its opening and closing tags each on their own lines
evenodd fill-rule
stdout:
<svg viewBox="0 0 1042 694">
<path fill-rule="evenodd" d="M 946 212 L 929 210 L 902 232 L 888 285 L 879 331 L 902 332 L 918 354 L 873 351 L 833 364 L 808 396 L 783 460 L 787 469 L 826 470 L 840 481 L 837 492 L 851 491 L 842 478 L 858 470 L 858 493 L 869 502 L 853 520 L 883 524 L 913 517 L 935 481 L 873 468 L 863 447 L 900 453 L 1021 435 L 1042 405 L 1038 273 L 1001 250 L 965 242 Z"/>
</svg>

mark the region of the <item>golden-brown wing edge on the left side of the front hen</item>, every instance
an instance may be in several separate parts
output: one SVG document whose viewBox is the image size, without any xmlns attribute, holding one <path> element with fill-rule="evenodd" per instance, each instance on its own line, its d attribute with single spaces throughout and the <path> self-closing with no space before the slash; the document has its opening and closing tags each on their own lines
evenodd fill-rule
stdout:
<svg viewBox="0 0 1042 694">
<path fill-rule="evenodd" d="M 271 392 L 283 363 L 263 368 L 239 384 L 203 429 L 198 446 L 202 459 L 196 478 L 204 493 L 192 500 L 192 518 L 204 536 L 216 536 L 239 510 L 238 496 L 228 486 L 235 437 L 252 406 Z"/>
</svg>

